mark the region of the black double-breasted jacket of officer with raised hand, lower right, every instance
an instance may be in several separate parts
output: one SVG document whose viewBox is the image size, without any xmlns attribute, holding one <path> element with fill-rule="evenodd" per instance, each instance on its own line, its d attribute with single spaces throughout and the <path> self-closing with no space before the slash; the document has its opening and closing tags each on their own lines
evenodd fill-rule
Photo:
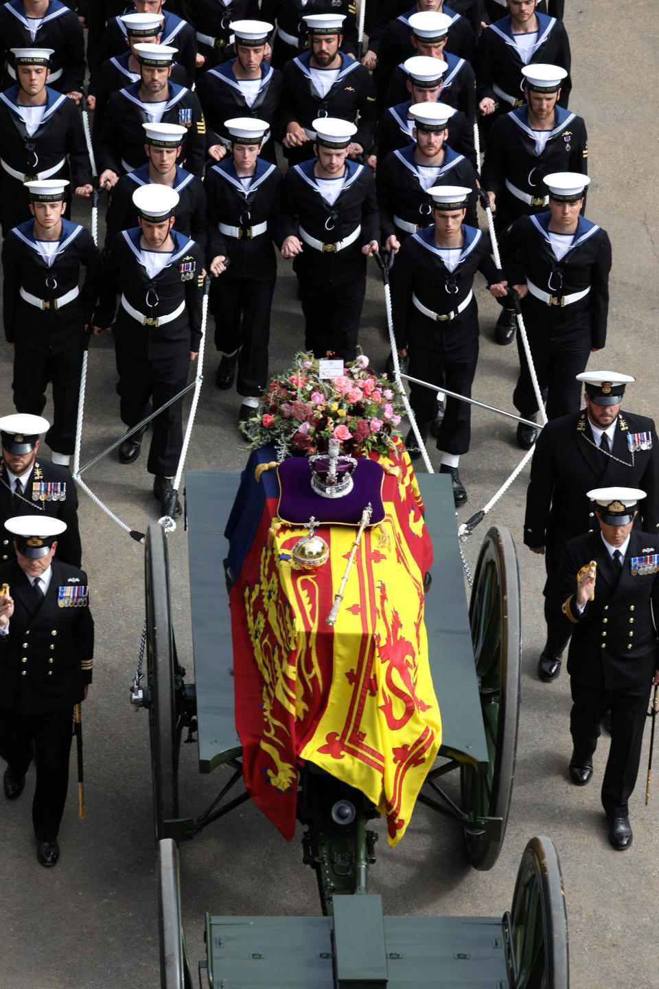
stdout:
<svg viewBox="0 0 659 989">
<path fill-rule="evenodd" d="M 565 544 L 554 611 L 572 633 L 567 671 L 575 682 L 596 690 L 623 690 L 650 681 L 659 667 L 659 643 L 652 609 L 659 614 L 659 575 L 632 573 L 634 558 L 659 553 L 659 538 L 632 529 L 621 568 L 609 556 L 599 531 Z M 580 615 L 577 574 L 597 564 L 595 594 Z M 634 568 L 635 569 L 635 568 Z"/>
</svg>

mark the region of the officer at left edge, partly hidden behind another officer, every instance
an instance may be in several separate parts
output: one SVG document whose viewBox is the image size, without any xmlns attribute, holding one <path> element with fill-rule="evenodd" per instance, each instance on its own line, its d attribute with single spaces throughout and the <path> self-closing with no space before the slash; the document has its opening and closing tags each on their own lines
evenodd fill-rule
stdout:
<svg viewBox="0 0 659 989">
<path fill-rule="evenodd" d="M 0 562 L 15 559 L 14 540 L 4 528 L 14 515 L 43 513 L 59 518 L 66 529 L 57 541 L 57 557 L 72 567 L 80 566 L 82 550 L 78 528 L 78 493 L 66 467 L 38 460 L 40 433 L 49 423 L 41 415 L 14 412 L 0 418 Z"/>
</svg>

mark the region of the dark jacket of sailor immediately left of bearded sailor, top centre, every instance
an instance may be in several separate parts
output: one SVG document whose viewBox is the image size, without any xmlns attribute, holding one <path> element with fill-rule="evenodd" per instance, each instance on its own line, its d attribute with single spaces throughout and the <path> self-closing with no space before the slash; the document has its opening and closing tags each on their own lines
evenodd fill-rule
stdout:
<svg viewBox="0 0 659 989">
<path fill-rule="evenodd" d="M 261 85 L 252 106 L 248 106 L 240 89 L 239 80 L 233 74 L 235 58 L 211 68 L 205 72 L 197 83 L 197 95 L 200 98 L 206 127 L 208 144 L 223 144 L 228 147 L 229 133 L 224 127 L 224 121 L 235 117 L 251 117 L 266 121 L 271 130 L 265 135 L 265 143 L 261 157 L 266 161 L 275 161 L 275 141 L 272 129 L 282 101 L 282 73 L 271 68 L 267 62 L 261 63 Z"/>
</svg>

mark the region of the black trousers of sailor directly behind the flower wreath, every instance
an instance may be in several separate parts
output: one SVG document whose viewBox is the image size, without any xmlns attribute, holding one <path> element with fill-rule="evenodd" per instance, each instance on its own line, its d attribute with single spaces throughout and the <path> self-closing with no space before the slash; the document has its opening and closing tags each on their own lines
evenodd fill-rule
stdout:
<svg viewBox="0 0 659 989">
<path fill-rule="evenodd" d="M 313 247 L 305 244 L 304 250 Z M 300 274 L 305 349 L 312 350 L 314 357 L 325 357 L 331 351 L 337 358 L 354 361 L 366 290 L 366 278 L 328 285 Z"/>
</svg>

